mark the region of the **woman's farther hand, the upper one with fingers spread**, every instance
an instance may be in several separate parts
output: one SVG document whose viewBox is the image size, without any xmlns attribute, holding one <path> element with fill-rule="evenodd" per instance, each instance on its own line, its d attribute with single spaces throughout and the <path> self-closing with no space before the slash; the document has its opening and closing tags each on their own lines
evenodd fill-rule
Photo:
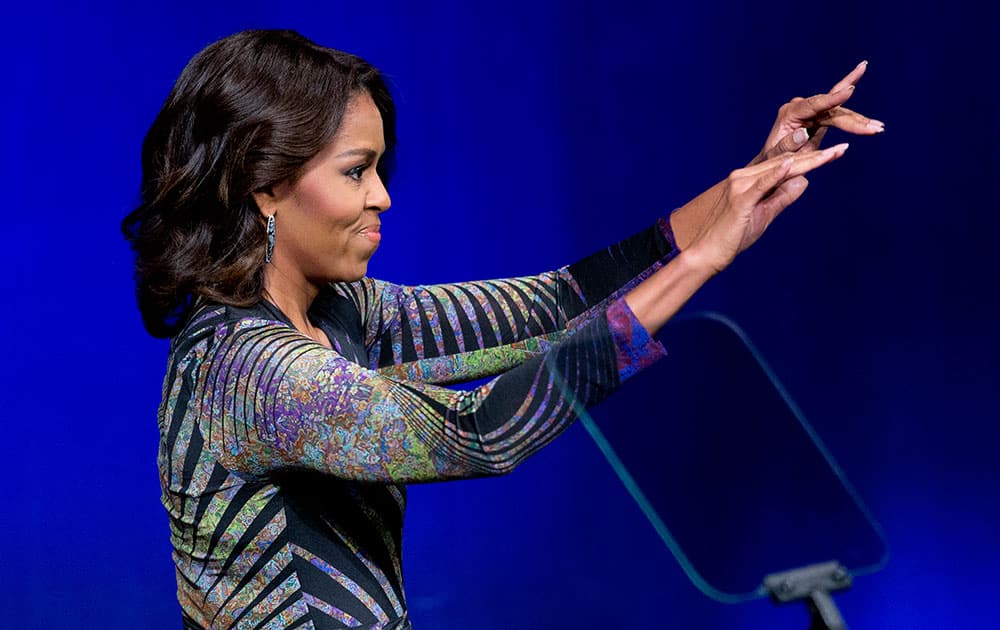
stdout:
<svg viewBox="0 0 1000 630">
<path fill-rule="evenodd" d="M 862 61 L 826 94 L 796 97 L 782 105 L 764 148 L 749 165 L 759 164 L 782 153 L 815 151 L 830 127 L 863 136 L 885 131 L 885 123 L 843 107 L 854 94 L 854 85 L 867 69 L 868 62 Z"/>
</svg>

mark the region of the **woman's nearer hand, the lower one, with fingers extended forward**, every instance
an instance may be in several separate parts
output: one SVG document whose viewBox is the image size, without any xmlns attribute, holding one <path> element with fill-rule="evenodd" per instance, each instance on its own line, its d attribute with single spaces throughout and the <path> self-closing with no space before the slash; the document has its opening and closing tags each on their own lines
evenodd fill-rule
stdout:
<svg viewBox="0 0 1000 630">
<path fill-rule="evenodd" d="M 806 173 L 844 155 L 847 144 L 785 153 L 729 174 L 686 251 L 711 274 L 753 245 L 782 210 L 805 192 Z"/>
</svg>

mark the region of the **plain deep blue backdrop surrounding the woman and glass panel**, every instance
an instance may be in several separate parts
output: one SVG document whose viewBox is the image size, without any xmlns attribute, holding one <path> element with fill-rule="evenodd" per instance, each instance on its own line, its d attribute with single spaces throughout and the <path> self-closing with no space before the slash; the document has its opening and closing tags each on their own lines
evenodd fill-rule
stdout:
<svg viewBox="0 0 1000 630">
<path fill-rule="evenodd" d="M 166 345 L 141 328 L 118 222 L 185 62 L 248 27 L 298 29 L 390 77 L 399 169 L 371 273 L 404 283 L 533 273 L 625 236 L 745 164 L 787 99 L 870 59 L 851 106 L 884 136 L 812 177 L 692 306 L 744 326 L 885 526 L 888 568 L 838 597 L 852 627 L 989 626 L 991 4 L 6 8 L 0 626 L 179 625 L 155 467 Z M 509 477 L 416 487 L 410 506 L 418 628 L 806 625 L 709 600 L 644 554 L 648 526 L 579 426 Z"/>
</svg>

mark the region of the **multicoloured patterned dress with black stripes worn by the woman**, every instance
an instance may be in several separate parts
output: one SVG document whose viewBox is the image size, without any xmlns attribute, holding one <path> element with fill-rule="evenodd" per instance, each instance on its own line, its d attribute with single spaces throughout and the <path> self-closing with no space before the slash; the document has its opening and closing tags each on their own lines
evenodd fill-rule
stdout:
<svg viewBox="0 0 1000 630">
<path fill-rule="evenodd" d="M 198 307 L 159 410 L 185 627 L 409 628 L 405 484 L 510 472 L 659 358 L 621 296 L 675 251 L 661 220 L 538 276 L 330 285 L 334 350 L 266 302 Z"/>
</svg>

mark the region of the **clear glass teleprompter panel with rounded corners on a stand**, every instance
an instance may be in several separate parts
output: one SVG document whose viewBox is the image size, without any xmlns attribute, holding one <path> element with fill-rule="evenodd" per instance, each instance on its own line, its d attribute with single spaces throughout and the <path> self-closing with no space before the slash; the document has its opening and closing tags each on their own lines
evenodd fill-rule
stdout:
<svg viewBox="0 0 1000 630">
<path fill-rule="evenodd" d="M 582 422 L 695 585 L 735 603 L 769 573 L 881 568 L 881 528 L 743 332 L 701 314 L 659 339 L 669 357 Z"/>
</svg>

